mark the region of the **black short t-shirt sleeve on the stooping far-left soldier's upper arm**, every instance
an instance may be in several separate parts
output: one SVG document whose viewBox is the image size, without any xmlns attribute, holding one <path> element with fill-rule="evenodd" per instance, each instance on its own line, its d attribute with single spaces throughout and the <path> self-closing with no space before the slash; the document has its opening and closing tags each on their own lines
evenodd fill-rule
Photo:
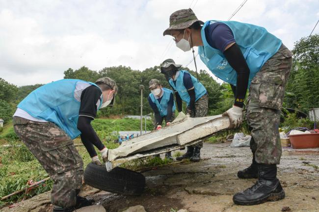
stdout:
<svg viewBox="0 0 319 212">
<path fill-rule="evenodd" d="M 85 88 L 81 94 L 79 116 L 86 116 L 94 119 L 98 110 L 97 102 L 101 100 L 102 91 L 95 85 Z"/>
</svg>

